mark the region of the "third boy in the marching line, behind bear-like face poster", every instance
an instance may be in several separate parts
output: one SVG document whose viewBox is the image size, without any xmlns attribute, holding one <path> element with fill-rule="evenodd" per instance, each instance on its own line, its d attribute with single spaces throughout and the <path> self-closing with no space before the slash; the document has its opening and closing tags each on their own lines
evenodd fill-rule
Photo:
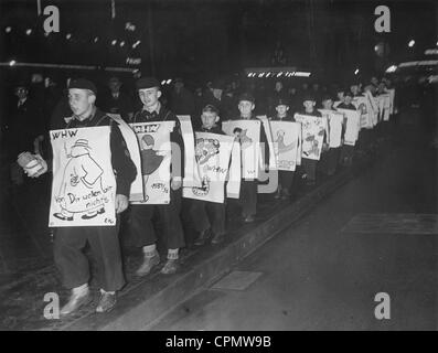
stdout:
<svg viewBox="0 0 438 353">
<path fill-rule="evenodd" d="M 206 105 L 202 109 L 202 126 L 196 129 L 199 132 L 210 132 L 225 135 L 218 127 L 218 109 L 213 105 Z M 225 199 L 224 199 L 225 200 Z M 207 202 L 203 200 L 191 200 L 190 213 L 192 222 L 199 236 L 195 245 L 203 245 L 212 235 L 213 244 L 220 244 L 224 240 L 225 235 L 225 201 L 224 203 Z M 211 218 L 209 218 L 209 214 Z"/>
</svg>

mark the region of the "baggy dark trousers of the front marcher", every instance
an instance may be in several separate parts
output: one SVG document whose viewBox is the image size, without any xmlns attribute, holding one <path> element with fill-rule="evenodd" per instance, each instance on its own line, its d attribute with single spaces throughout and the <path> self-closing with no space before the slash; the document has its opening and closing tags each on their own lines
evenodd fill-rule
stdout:
<svg viewBox="0 0 438 353">
<path fill-rule="evenodd" d="M 117 222 L 118 223 L 118 222 Z M 88 242 L 97 264 L 97 280 L 106 291 L 125 285 L 118 226 L 58 227 L 54 236 L 54 259 L 63 285 L 71 289 L 89 280 L 88 258 L 83 249 Z"/>
</svg>

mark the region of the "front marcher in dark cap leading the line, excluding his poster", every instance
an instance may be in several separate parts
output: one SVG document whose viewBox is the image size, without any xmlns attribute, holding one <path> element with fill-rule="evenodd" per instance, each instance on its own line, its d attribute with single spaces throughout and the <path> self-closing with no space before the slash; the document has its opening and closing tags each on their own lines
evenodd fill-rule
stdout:
<svg viewBox="0 0 438 353">
<path fill-rule="evenodd" d="M 116 213 L 128 207 L 130 184 L 136 178 L 136 167 L 130 159 L 124 137 L 110 117 L 95 106 L 96 86 L 88 79 L 70 82 L 68 103 L 73 116 L 65 122 L 65 129 L 110 126 L 111 167 L 116 176 Z M 88 288 L 89 264 L 83 249 L 89 244 L 96 258 L 100 299 L 97 312 L 110 311 L 116 304 L 116 291 L 125 285 L 118 226 L 66 226 L 56 229 L 54 259 L 61 271 L 63 285 L 72 290 L 68 302 L 61 309 L 67 315 L 92 300 Z"/>
</svg>

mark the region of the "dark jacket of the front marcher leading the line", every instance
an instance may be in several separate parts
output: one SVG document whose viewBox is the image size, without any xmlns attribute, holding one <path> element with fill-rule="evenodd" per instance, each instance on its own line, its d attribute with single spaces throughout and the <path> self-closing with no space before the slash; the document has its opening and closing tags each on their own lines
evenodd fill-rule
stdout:
<svg viewBox="0 0 438 353">
<path fill-rule="evenodd" d="M 110 126 L 110 152 L 111 152 L 111 164 L 116 175 L 117 194 L 122 194 L 129 197 L 129 190 L 132 181 L 136 179 L 137 169 L 130 159 L 128 148 L 125 139 L 117 127 L 117 122 L 110 117 L 105 115 L 102 110 L 96 108 L 94 115 L 88 119 L 79 121 L 75 118 L 65 124 L 65 129 L 75 128 L 89 128 L 96 126 Z"/>
</svg>

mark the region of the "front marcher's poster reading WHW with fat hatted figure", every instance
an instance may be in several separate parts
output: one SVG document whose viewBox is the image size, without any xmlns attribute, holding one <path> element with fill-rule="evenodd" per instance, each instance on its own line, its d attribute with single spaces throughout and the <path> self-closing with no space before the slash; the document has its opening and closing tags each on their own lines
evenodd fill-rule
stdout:
<svg viewBox="0 0 438 353">
<path fill-rule="evenodd" d="M 110 127 L 50 131 L 53 183 L 49 226 L 116 225 Z"/>
</svg>

